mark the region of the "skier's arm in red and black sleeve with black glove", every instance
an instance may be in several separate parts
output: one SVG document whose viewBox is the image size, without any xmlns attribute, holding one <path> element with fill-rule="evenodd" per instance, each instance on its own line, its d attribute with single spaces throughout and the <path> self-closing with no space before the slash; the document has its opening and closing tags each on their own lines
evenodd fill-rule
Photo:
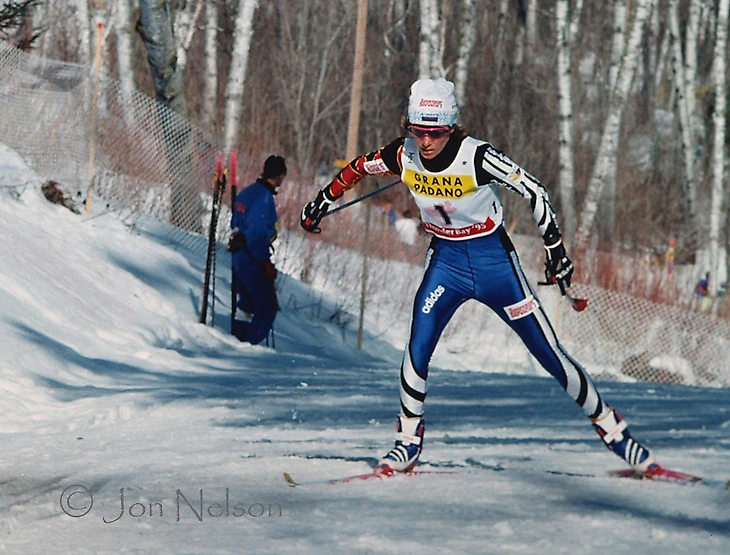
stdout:
<svg viewBox="0 0 730 555">
<path fill-rule="evenodd" d="M 330 205 L 365 176 L 400 174 L 400 152 L 404 141 L 403 137 L 399 137 L 390 144 L 358 156 L 347 164 L 312 202 L 304 205 L 301 226 L 312 233 L 319 233 L 319 222 L 327 214 Z"/>
</svg>

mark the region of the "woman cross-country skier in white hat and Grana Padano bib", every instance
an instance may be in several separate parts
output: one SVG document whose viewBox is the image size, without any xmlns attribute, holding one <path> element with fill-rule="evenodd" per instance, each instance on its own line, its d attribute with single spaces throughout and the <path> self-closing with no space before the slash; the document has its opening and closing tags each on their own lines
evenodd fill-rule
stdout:
<svg viewBox="0 0 730 555">
<path fill-rule="evenodd" d="M 418 463 L 428 364 L 446 324 L 469 299 L 487 305 L 520 336 L 611 451 L 640 472 L 658 469 L 652 453 L 632 439 L 626 422 L 601 399 L 585 368 L 558 342 L 504 229 L 499 189 L 529 200 L 545 243 L 545 275 L 565 293 L 573 263 L 545 187 L 488 142 L 468 136 L 456 123 L 457 112 L 453 83 L 442 78 L 416 81 L 405 122 L 409 137 L 352 160 L 302 210 L 302 227 L 317 232 L 330 205 L 363 177 L 398 175 L 420 209 L 424 228 L 433 234 L 401 364 L 395 447 L 376 470 L 402 472 Z"/>
</svg>

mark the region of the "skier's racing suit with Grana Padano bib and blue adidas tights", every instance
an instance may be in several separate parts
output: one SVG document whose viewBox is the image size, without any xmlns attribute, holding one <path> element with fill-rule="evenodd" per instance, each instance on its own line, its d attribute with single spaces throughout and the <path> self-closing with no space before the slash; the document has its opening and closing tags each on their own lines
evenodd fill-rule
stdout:
<svg viewBox="0 0 730 555">
<path fill-rule="evenodd" d="M 646 450 L 630 439 L 628 431 L 622 435 L 624 421 L 604 404 L 586 370 L 558 341 L 504 229 L 500 189 L 530 202 L 546 244 L 560 238 L 545 187 L 487 142 L 452 136 L 438 156 L 424 160 L 415 141 L 401 137 L 353 160 L 329 185 L 329 194 L 340 196 L 365 175 L 387 174 L 400 175 L 418 205 L 423 226 L 434 235 L 401 365 L 403 415 L 423 415 L 431 355 L 457 308 L 474 299 L 520 336 L 594 423 L 600 420 L 606 425 L 596 429 L 607 444 L 624 442 L 618 450 L 615 445 L 609 448 L 632 464 L 646 459 Z"/>
</svg>

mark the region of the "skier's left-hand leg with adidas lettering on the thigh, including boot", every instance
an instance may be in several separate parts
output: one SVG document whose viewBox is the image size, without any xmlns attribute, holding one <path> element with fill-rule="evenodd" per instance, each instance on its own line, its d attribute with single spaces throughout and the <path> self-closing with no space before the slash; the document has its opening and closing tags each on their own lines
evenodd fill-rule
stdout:
<svg viewBox="0 0 730 555">
<path fill-rule="evenodd" d="M 378 463 L 381 472 L 402 472 L 418 463 L 423 448 L 428 364 L 446 324 L 468 298 L 433 254 L 433 248 L 429 248 L 426 271 L 413 301 L 410 338 L 400 370 L 401 413 L 396 423 L 396 442 Z"/>
</svg>

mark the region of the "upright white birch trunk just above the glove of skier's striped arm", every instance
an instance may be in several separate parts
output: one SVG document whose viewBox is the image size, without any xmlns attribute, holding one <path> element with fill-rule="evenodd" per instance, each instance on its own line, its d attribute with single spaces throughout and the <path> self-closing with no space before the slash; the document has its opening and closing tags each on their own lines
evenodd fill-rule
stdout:
<svg viewBox="0 0 730 555">
<path fill-rule="evenodd" d="M 560 160 L 560 207 L 563 235 L 575 236 L 575 169 L 573 159 L 573 100 L 571 88 L 571 37 L 568 0 L 558 0 L 555 8 L 558 38 L 558 119 Z"/>
</svg>

